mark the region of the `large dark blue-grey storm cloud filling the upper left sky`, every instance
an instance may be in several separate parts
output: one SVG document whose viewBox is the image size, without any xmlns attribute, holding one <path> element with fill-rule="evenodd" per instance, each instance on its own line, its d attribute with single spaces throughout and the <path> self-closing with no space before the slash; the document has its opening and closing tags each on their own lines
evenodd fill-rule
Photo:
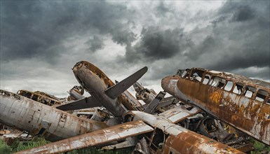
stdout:
<svg viewBox="0 0 270 154">
<path fill-rule="evenodd" d="M 106 1 L 1 1 L 1 60 L 41 57 L 51 62 L 72 36 L 110 34 L 116 43 L 134 40 L 126 6 Z M 94 38 L 91 50 L 102 48 Z"/>
</svg>

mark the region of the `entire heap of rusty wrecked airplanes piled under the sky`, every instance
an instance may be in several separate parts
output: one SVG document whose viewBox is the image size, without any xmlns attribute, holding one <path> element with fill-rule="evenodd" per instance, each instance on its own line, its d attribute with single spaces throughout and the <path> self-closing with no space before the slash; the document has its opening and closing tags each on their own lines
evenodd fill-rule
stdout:
<svg viewBox="0 0 270 154">
<path fill-rule="evenodd" d="M 90 146 L 133 147 L 133 153 L 248 153 L 251 138 L 270 146 L 270 83 L 180 69 L 161 80 L 164 91 L 157 93 L 137 83 L 147 67 L 116 83 L 90 62 L 78 62 L 72 71 L 80 85 L 67 98 L 0 90 L 0 123 L 52 141 L 18 153 Z M 172 96 L 165 97 L 167 92 Z"/>
</svg>

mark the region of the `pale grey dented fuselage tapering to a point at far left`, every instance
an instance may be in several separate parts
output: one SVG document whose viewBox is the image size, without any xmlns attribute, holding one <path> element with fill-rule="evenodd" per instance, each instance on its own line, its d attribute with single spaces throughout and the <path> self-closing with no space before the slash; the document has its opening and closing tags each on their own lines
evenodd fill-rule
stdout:
<svg viewBox="0 0 270 154">
<path fill-rule="evenodd" d="M 58 141 L 107 127 L 104 123 L 79 118 L 19 94 L 0 90 L 0 123 L 29 134 Z"/>
</svg>

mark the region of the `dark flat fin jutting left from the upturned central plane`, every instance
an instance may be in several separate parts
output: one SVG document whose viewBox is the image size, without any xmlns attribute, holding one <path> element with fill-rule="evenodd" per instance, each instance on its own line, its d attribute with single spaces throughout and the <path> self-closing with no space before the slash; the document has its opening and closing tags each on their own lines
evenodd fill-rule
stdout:
<svg viewBox="0 0 270 154">
<path fill-rule="evenodd" d="M 101 106 L 101 104 L 97 102 L 97 100 L 94 97 L 85 97 L 83 99 L 79 99 L 77 101 L 62 106 L 58 106 L 56 108 L 62 111 L 69 111 L 69 110 L 93 108 L 97 106 Z"/>
</svg>

